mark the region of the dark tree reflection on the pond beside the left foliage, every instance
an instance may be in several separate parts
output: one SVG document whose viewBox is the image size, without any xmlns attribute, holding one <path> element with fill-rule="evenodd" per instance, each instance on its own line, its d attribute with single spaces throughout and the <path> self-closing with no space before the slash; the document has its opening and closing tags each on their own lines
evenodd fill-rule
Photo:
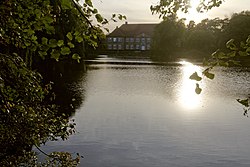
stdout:
<svg viewBox="0 0 250 167">
<path fill-rule="evenodd" d="M 84 101 L 81 85 L 85 77 L 85 65 L 76 62 L 46 62 L 39 66 L 45 82 L 53 82 L 55 103 L 59 110 L 70 117 Z"/>
</svg>

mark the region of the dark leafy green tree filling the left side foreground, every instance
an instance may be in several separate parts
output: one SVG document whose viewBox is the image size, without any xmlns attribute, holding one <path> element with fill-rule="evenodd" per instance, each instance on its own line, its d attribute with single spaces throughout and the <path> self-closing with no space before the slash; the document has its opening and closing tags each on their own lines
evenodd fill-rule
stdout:
<svg viewBox="0 0 250 167">
<path fill-rule="evenodd" d="M 108 20 L 91 0 L 82 6 L 75 0 L 2 0 L 0 13 L 0 166 L 46 166 L 37 162 L 32 146 L 67 139 L 75 124 L 58 111 L 51 84 L 32 70 L 33 61 L 80 62 L 85 46 L 97 47 L 104 37 Z M 68 153 L 48 157 L 51 166 L 79 163 L 79 156 Z"/>
</svg>

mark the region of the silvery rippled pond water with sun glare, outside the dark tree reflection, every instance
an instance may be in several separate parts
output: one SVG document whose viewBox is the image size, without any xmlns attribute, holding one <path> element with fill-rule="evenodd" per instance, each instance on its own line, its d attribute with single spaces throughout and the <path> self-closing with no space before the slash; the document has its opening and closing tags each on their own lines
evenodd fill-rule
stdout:
<svg viewBox="0 0 250 167">
<path fill-rule="evenodd" d="M 84 167 L 249 167 L 250 118 L 237 98 L 250 92 L 249 68 L 216 68 L 200 95 L 189 79 L 202 67 L 89 64 L 69 85 L 84 96 L 77 133 L 45 152 L 84 156 Z"/>
</svg>

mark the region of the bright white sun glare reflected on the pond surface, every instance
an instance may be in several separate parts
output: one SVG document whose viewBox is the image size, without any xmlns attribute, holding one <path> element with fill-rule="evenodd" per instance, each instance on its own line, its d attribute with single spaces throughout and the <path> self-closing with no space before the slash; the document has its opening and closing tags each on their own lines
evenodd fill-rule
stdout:
<svg viewBox="0 0 250 167">
<path fill-rule="evenodd" d="M 178 91 L 178 102 L 180 103 L 181 107 L 185 109 L 197 109 L 201 107 L 202 94 L 197 95 L 195 93 L 196 82 L 190 80 L 189 77 L 194 72 L 200 74 L 201 68 L 186 61 L 181 61 L 180 64 L 183 65 L 183 67 L 180 88 Z"/>
</svg>

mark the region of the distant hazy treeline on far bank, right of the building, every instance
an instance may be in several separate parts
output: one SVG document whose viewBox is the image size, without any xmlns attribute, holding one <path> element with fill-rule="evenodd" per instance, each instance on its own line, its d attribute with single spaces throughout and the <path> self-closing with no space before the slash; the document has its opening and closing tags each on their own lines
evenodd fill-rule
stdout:
<svg viewBox="0 0 250 167">
<path fill-rule="evenodd" d="M 203 59 L 217 49 L 226 51 L 226 42 L 234 39 L 240 46 L 250 35 L 250 11 L 235 13 L 226 19 L 204 19 L 199 24 L 184 19 L 167 18 L 155 29 L 152 59 Z M 250 59 L 249 56 L 246 59 Z"/>
</svg>

